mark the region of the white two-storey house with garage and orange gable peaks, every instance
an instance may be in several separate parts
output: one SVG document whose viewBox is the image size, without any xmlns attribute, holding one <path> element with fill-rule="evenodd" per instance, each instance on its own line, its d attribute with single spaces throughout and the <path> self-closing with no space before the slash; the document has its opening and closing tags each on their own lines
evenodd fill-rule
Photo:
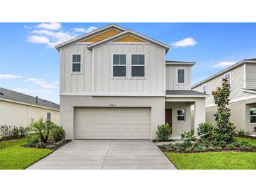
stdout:
<svg viewBox="0 0 256 192">
<path fill-rule="evenodd" d="M 61 43 L 60 125 L 68 139 L 155 139 L 205 121 L 206 94 L 191 90 L 193 62 L 166 61 L 169 46 L 108 25 Z"/>
</svg>

